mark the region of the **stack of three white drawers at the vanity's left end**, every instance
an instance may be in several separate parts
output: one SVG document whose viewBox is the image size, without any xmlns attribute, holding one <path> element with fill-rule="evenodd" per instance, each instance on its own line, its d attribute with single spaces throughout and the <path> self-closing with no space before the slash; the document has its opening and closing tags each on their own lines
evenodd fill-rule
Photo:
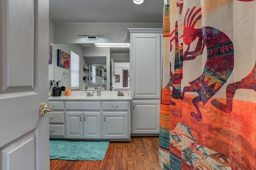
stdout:
<svg viewBox="0 0 256 170">
<path fill-rule="evenodd" d="M 49 113 L 49 135 L 50 138 L 65 138 L 64 102 L 49 101 L 50 106 L 54 106 Z"/>
</svg>

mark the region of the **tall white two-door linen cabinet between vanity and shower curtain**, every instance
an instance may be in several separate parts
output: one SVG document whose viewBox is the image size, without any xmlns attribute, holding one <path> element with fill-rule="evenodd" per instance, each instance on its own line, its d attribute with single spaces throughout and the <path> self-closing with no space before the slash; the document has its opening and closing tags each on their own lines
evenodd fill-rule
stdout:
<svg viewBox="0 0 256 170">
<path fill-rule="evenodd" d="M 128 28 L 130 37 L 131 134 L 158 135 L 161 98 L 162 29 Z"/>
</svg>

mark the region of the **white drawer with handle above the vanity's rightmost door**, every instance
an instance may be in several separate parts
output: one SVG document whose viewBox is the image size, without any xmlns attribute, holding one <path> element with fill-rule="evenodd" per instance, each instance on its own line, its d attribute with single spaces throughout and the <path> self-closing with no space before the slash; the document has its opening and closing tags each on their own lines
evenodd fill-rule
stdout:
<svg viewBox="0 0 256 170">
<path fill-rule="evenodd" d="M 128 110 L 128 101 L 113 102 L 104 101 L 102 102 L 102 108 L 106 110 Z"/>
</svg>

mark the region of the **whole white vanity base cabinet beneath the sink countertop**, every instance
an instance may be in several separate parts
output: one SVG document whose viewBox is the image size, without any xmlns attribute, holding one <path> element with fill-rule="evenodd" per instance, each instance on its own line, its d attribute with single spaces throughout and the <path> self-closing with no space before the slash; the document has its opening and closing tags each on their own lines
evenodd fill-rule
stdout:
<svg viewBox="0 0 256 170">
<path fill-rule="evenodd" d="M 70 98 L 50 100 L 50 138 L 130 141 L 131 98 Z"/>
</svg>

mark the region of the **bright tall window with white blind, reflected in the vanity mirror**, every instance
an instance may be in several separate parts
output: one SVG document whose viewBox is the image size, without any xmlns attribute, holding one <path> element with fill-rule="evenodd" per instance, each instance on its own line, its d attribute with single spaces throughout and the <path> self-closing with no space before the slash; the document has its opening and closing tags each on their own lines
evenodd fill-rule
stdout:
<svg viewBox="0 0 256 170">
<path fill-rule="evenodd" d="M 70 56 L 71 88 L 79 88 L 79 55 L 71 51 Z"/>
</svg>

